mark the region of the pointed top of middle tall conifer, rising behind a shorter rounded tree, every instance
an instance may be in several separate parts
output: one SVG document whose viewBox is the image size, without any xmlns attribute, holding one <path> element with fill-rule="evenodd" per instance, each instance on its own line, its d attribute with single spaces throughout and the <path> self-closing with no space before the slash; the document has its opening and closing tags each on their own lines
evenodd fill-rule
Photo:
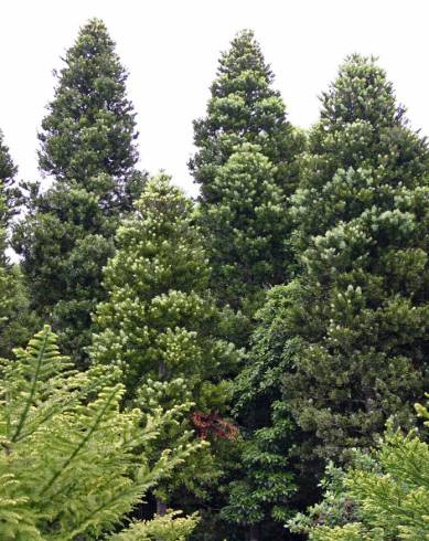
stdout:
<svg viewBox="0 0 429 541">
<path fill-rule="evenodd" d="M 272 88 L 274 75 L 266 64 L 251 31 L 238 33 L 229 51 L 222 54 L 207 116 L 194 123 L 197 152 L 191 160 L 195 181 L 201 184 L 201 200 L 216 202 L 212 183 L 216 168 L 223 166 L 235 148 L 245 142 L 258 145 L 262 153 L 278 166 L 278 182 L 292 189 L 293 161 L 301 139 L 286 119 L 285 104 Z"/>
</svg>

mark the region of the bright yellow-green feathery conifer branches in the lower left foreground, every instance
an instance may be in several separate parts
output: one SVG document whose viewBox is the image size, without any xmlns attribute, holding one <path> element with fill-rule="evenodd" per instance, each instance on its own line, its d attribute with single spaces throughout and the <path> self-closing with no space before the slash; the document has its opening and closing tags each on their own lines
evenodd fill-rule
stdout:
<svg viewBox="0 0 429 541">
<path fill-rule="evenodd" d="M 197 450 L 197 445 L 165 448 L 150 465 L 151 439 L 181 412 L 153 410 L 143 423 L 137 409 L 121 413 L 118 374 L 73 371 L 47 326 L 15 354 L 1 365 L 2 540 L 100 539 Z M 183 539 L 193 522 L 179 522 L 176 537 L 161 539 Z M 141 539 L 154 539 L 152 530 L 169 526 L 132 528 L 141 530 Z"/>
</svg>

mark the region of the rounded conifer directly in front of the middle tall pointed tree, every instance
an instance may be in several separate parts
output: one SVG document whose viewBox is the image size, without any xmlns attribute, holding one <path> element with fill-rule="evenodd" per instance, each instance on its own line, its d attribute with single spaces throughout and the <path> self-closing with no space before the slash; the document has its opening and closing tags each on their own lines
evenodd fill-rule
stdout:
<svg viewBox="0 0 429 541">
<path fill-rule="evenodd" d="M 264 287 L 281 283 L 290 264 L 286 232 L 290 220 L 277 169 L 260 151 L 244 144 L 218 168 L 215 204 L 202 205 L 208 238 L 212 285 L 222 304 L 251 316 Z"/>
</svg>

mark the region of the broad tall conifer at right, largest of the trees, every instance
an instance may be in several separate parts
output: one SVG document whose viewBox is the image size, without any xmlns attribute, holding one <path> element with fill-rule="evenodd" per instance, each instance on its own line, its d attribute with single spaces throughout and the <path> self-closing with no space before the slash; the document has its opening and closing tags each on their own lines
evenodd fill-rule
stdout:
<svg viewBox="0 0 429 541">
<path fill-rule="evenodd" d="M 301 456 L 368 447 L 427 388 L 426 141 L 385 72 L 353 55 L 322 97 L 293 198 L 302 275 L 277 288 L 266 373 L 303 431 Z M 262 370 L 262 371 L 264 371 Z"/>
</svg>

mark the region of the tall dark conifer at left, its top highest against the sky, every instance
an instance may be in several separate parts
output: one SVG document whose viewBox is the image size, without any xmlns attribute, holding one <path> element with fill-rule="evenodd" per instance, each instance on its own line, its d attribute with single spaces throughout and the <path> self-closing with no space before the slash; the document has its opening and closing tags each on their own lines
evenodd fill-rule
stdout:
<svg viewBox="0 0 429 541">
<path fill-rule="evenodd" d="M 90 340 L 90 312 L 103 295 L 101 268 L 114 252 L 118 218 L 141 190 L 135 170 L 135 114 L 126 96 L 127 72 L 99 20 L 89 21 L 56 74 L 58 84 L 42 121 L 45 192 L 28 187 L 28 215 L 14 247 L 37 314 L 52 321 L 65 352 Z"/>
</svg>

